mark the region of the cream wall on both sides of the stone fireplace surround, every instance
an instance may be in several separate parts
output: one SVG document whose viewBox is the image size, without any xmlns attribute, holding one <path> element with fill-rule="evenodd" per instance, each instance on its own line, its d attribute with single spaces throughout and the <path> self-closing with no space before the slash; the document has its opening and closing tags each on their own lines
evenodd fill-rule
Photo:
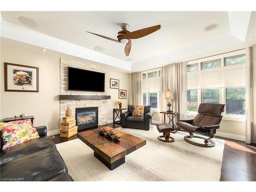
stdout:
<svg viewBox="0 0 256 192">
<path fill-rule="evenodd" d="M 39 67 L 39 93 L 5 92 L 4 62 Z M 1 121 L 7 117 L 25 113 L 26 116 L 35 117 L 35 126 L 47 125 L 48 131 L 59 130 L 60 62 L 58 56 L 1 45 L 0 72 Z M 107 69 L 107 73 L 109 78 L 120 80 L 120 89 L 129 91 L 129 74 L 111 68 Z M 110 80 L 109 78 L 107 81 Z M 111 95 L 111 99 L 108 100 L 108 121 L 111 122 L 113 121 L 113 108 L 117 106 L 115 101 L 118 99 L 118 90 L 109 89 L 108 95 Z M 122 100 L 123 107 L 127 107 L 128 98 Z"/>
</svg>

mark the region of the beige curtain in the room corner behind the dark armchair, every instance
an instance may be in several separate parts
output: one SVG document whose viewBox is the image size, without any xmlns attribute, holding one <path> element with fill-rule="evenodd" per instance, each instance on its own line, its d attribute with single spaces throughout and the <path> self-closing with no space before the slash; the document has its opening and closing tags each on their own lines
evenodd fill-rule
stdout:
<svg viewBox="0 0 256 192">
<path fill-rule="evenodd" d="M 129 104 L 142 104 L 142 74 L 141 72 L 129 74 Z"/>
</svg>

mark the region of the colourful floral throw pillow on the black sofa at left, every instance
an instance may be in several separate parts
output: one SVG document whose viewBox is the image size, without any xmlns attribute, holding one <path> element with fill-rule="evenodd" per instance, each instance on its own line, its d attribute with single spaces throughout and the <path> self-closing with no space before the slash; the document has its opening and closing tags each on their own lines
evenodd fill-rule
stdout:
<svg viewBox="0 0 256 192">
<path fill-rule="evenodd" d="M 14 145 L 39 138 L 31 120 L 12 121 L 1 126 L 2 150 Z"/>
</svg>

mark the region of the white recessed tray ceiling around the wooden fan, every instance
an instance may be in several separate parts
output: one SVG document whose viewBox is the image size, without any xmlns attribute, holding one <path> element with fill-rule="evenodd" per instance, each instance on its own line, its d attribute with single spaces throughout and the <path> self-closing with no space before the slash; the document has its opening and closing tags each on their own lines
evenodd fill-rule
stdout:
<svg viewBox="0 0 256 192">
<path fill-rule="evenodd" d="M 49 36 L 62 39 L 72 44 L 94 50 L 100 46 L 105 50 L 101 53 L 115 57 L 122 61 L 127 57 L 124 54 L 124 44 L 119 44 L 89 33 L 102 34 L 116 38 L 117 32 L 121 30 L 120 23 L 128 23 L 129 31 L 154 25 L 161 25 L 157 32 L 140 39 L 132 40 L 132 49 L 128 62 L 146 67 L 148 61 L 151 65 L 161 65 L 179 58 L 195 54 L 193 47 L 197 48 L 196 54 L 205 50 L 223 48 L 241 44 L 243 41 L 230 33 L 228 12 L 1 12 L 6 22 L 20 25 Z M 248 14 L 247 14 L 248 15 Z M 38 23 L 37 28 L 30 28 L 19 22 L 18 17 L 25 16 Z M 255 14 L 253 14 L 255 17 Z M 204 28 L 209 24 L 218 24 L 218 27 L 211 31 Z M 255 25 L 252 23 L 250 25 Z M 256 27 L 249 26 L 250 34 L 255 32 Z M 245 34 L 247 33 L 247 29 Z M 253 31 L 254 30 L 254 31 Z M 245 38 L 255 41 L 253 37 Z M 211 47 L 211 44 L 214 45 Z M 188 49 L 189 48 L 189 49 Z M 184 52 L 184 54 L 183 54 Z M 190 55 L 189 55 L 190 54 Z M 172 58 L 169 57 L 172 55 Z M 152 59 L 151 59 L 152 58 Z M 159 60 L 159 58 L 161 58 Z M 163 59 L 164 58 L 164 59 Z M 161 62 L 161 63 L 159 63 Z M 136 66 L 135 66 L 136 65 Z"/>
</svg>

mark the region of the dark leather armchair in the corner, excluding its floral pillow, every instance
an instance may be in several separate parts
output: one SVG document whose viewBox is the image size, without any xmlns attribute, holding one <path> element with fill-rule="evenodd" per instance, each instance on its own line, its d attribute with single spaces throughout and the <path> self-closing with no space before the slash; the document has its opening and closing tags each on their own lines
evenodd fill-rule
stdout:
<svg viewBox="0 0 256 192">
<path fill-rule="evenodd" d="M 128 105 L 128 110 L 120 114 L 122 128 L 133 128 L 140 130 L 150 130 L 150 125 L 152 122 L 153 112 L 150 111 L 151 106 L 144 106 L 144 116 L 132 116 L 133 114 L 133 105 Z"/>
</svg>

